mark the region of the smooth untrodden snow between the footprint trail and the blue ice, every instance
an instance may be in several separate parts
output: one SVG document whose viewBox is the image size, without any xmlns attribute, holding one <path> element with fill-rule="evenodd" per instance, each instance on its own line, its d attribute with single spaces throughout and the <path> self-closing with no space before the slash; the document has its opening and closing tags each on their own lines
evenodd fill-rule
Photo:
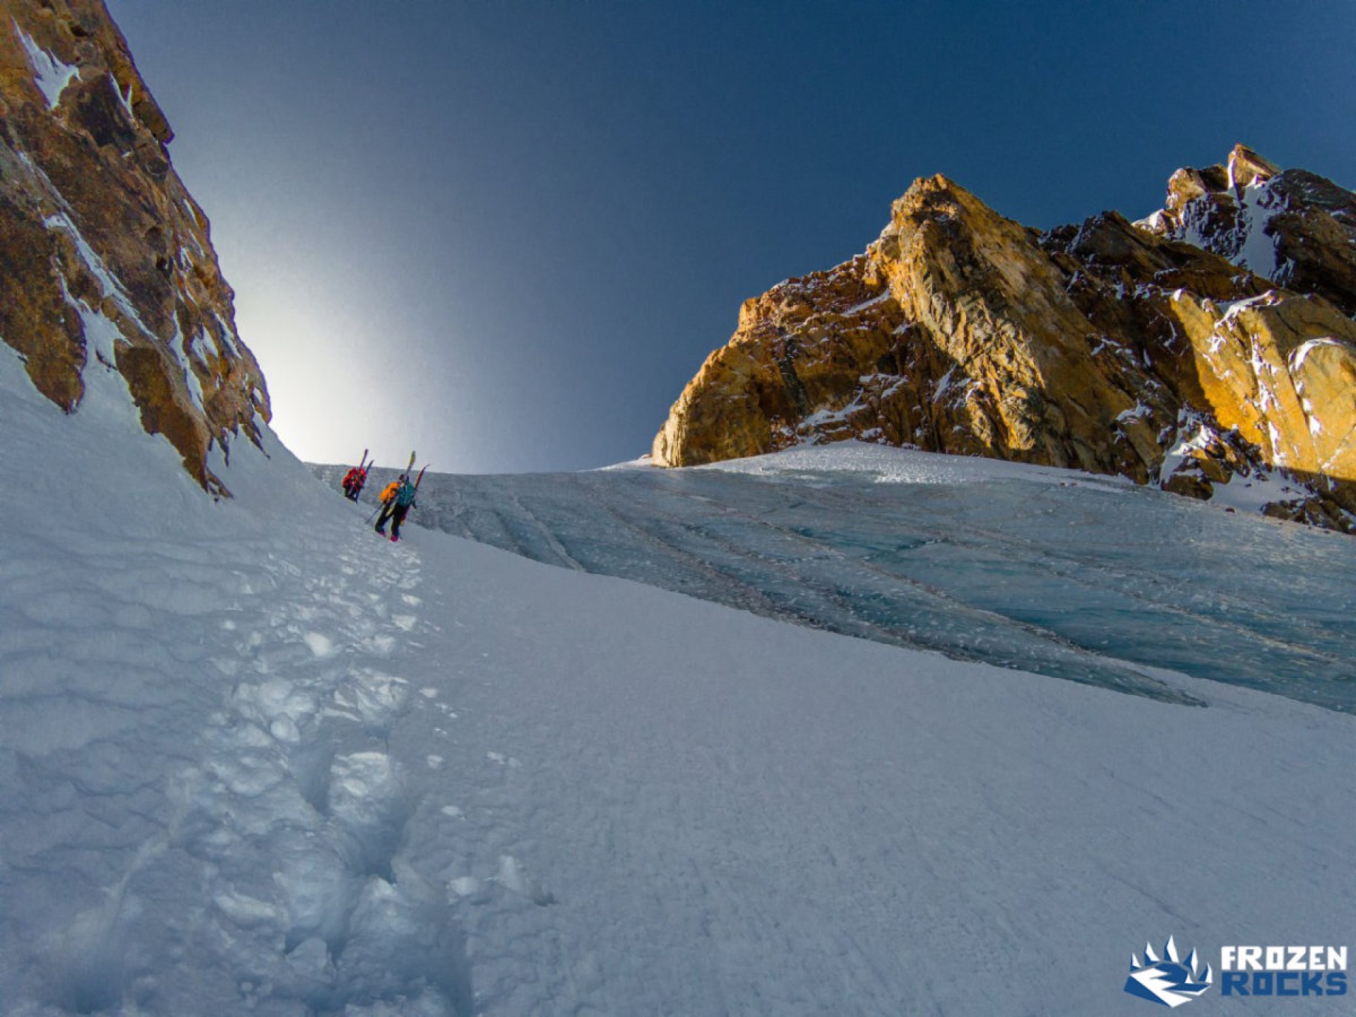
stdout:
<svg viewBox="0 0 1356 1017">
<path fill-rule="evenodd" d="M 1211 702 L 1172 706 L 419 551 L 465 656 L 488 654 L 447 772 L 522 762 L 412 854 L 485 883 L 510 854 L 553 902 L 458 909 L 487 1013 L 1135 1013 L 1134 929 L 1203 952 L 1347 934 L 1348 717 L 1163 673 Z"/>
</svg>

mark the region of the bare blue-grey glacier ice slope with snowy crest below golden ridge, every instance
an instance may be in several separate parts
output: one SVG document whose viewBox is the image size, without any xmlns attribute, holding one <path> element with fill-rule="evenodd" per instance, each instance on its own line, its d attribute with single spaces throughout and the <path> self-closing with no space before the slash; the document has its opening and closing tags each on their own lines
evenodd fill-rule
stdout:
<svg viewBox="0 0 1356 1017">
<path fill-rule="evenodd" d="M 1234 477 L 1219 500 L 1281 487 Z M 424 525 L 538 561 L 892 645 L 1153 697 L 1177 693 L 1144 664 L 1356 708 L 1356 544 L 1117 477 L 841 442 L 677 472 L 430 473 L 419 503 Z"/>
</svg>

